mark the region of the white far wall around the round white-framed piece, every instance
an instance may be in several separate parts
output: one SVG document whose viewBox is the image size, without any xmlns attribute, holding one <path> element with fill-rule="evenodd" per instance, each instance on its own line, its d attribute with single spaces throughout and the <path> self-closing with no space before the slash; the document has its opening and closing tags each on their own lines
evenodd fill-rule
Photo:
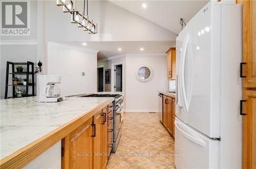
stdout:
<svg viewBox="0 0 256 169">
<path fill-rule="evenodd" d="M 124 110 L 126 112 L 157 112 L 158 90 L 168 90 L 167 59 L 165 54 L 125 54 L 124 57 L 109 61 L 98 62 L 98 66 L 105 65 L 105 69 L 112 64 L 124 62 Z M 141 65 L 150 66 L 154 71 L 151 81 L 140 82 L 135 72 Z M 113 74 L 112 74 L 113 77 Z M 113 81 L 112 81 L 113 83 Z M 105 86 L 105 91 L 110 90 Z"/>
</svg>

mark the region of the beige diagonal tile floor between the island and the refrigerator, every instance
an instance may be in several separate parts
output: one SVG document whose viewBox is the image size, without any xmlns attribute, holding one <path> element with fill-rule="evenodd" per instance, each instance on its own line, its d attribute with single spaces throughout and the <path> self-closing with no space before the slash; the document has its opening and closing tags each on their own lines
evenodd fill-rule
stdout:
<svg viewBox="0 0 256 169">
<path fill-rule="evenodd" d="M 106 168 L 176 168 L 174 139 L 157 113 L 124 114 L 120 142 Z"/>
</svg>

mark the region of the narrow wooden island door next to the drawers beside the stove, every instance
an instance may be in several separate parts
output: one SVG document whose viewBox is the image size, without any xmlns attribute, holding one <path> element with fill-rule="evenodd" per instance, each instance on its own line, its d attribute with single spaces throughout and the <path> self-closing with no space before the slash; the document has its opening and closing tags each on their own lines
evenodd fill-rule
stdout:
<svg viewBox="0 0 256 169">
<path fill-rule="evenodd" d="M 108 163 L 108 107 L 102 109 L 102 166 L 106 167 Z"/>
</svg>

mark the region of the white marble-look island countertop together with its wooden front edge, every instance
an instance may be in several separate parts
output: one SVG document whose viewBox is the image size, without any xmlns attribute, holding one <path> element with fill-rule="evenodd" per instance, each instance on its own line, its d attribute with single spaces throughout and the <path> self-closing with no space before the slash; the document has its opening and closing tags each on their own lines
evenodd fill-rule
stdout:
<svg viewBox="0 0 256 169">
<path fill-rule="evenodd" d="M 37 97 L 0 100 L 0 168 L 26 166 L 112 101 L 88 97 L 56 103 L 39 103 Z"/>
</svg>

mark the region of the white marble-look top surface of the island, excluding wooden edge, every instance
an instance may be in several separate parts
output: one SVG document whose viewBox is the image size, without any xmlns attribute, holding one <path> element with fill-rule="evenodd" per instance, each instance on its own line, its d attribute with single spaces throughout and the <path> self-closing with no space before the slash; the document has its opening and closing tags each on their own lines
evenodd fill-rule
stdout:
<svg viewBox="0 0 256 169">
<path fill-rule="evenodd" d="M 0 159 L 114 98 L 69 97 L 40 103 L 37 97 L 0 100 Z"/>
</svg>

